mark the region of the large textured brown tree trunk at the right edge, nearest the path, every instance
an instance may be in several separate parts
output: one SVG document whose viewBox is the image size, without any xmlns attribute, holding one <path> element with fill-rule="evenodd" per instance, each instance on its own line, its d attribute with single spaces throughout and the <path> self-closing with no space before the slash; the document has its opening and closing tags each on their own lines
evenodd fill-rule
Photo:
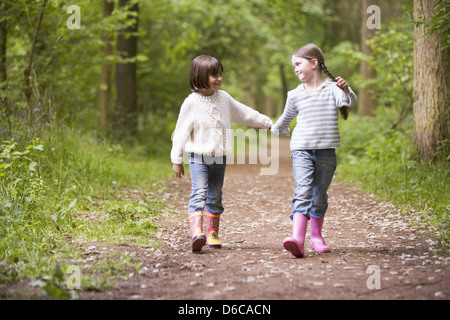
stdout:
<svg viewBox="0 0 450 320">
<path fill-rule="evenodd" d="M 415 21 L 433 16 L 435 5 L 414 0 Z M 450 143 L 450 48 L 442 50 L 442 35 L 427 31 L 414 28 L 414 139 L 424 161 L 439 158 L 440 144 Z"/>
</svg>

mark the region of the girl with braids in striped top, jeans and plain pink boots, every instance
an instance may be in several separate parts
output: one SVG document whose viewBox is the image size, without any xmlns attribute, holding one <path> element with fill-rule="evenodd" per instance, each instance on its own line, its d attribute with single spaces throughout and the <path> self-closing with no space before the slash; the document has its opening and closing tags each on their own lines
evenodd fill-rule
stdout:
<svg viewBox="0 0 450 320">
<path fill-rule="evenodd" d="M 291 61 L 303 83 L 288 93 L 285 110 L 271 131 L 289 135 L 289 123 L 297 116 L 291 138 L 296 183 L 290 215 L 293 231 L 283 247 L 295 257 L 303 257 L 308 221 L 311 247 L 316 252 L 330 251 L 322 237 L 322 226 L 328 208 L 327 191 L 336 169 L 335 149 L 340 143 L 338 112 L 347 119 L 347 108 L 356 104 L 356 95 L 344 79 L 331 75 L 315 44 L 297 49 Z M 330 79 L 323 79 L 321 71 Z"/>
</svg>

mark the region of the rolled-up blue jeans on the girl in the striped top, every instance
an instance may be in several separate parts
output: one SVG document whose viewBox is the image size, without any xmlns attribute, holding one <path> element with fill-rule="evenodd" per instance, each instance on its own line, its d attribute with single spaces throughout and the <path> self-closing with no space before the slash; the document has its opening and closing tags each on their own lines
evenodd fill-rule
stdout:
<svg viewBox="0 0 450 320">
<path fill-rule="evenodd" d="M 295 150 L 292 152 L 296 188 L 292 212 L 320 218 L 328 208 L 328 187 L 336 170 L 335 149 Z"/>
</svg>

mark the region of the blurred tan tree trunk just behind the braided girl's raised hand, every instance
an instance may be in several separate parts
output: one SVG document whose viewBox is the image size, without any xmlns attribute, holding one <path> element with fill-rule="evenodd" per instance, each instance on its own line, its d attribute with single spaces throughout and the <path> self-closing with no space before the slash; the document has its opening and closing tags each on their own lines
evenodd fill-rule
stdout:
<svg viewBox="0 0 450 320">
<path fill-rule="evenodd" d="M 366 41 L 369 40 L 376 31 L 376 29 L 369 29 L 367 26 L 367 19 L 370 17 L 367 14 L 367 8 L 372 4 L 376 5 L 377 3 L 373 0 L 363 0 L 361 7 L 361 52 L 367 56 L 372 55 L 372 49 L 367 45 Z M 359 72 L 362 80 L 371 80 L 376 77 L 375 70 L 371 68 L 369 63 L 366 61 L 361 62 Z M 361 117 L 373 116 L 377 106 L 375 99 L 375 86 L 370 84 L 360 88 L 358 93 L 358 101 L 358 115 Z"/>
</svg>

